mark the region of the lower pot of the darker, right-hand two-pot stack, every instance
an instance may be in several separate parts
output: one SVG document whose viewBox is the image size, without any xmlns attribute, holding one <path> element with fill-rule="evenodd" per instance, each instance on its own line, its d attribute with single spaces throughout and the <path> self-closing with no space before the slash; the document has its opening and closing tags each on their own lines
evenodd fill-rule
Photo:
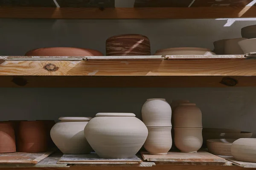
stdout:
<svg viewBox="0 0 256 170">
<path fill-rule="evenodd" d="M 186 153 L 196 153 L 203 144 L 203 128 L 174 127 L 175 146 Z"/>
</svg>

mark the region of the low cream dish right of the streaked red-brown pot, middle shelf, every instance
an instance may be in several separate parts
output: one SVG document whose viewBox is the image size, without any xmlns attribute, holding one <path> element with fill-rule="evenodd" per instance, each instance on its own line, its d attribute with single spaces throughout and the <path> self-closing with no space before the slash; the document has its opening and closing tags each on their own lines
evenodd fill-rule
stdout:
<svg viewBox="0 0 256 170">
<path fill-rule="evenodd" d="M 157 50 L 154 55 L 215 55 L 215 53 L 207 48 L 180 47 Z"/>
</svg>

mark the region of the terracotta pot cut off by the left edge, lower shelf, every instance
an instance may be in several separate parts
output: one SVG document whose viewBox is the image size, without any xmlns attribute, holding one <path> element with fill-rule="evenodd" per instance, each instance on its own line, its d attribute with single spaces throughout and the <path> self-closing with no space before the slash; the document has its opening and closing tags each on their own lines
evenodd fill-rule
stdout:
<svg viewBox="0 0 256 170">
<path fill-rule="evenodd" d="M 0 153 L 16 152 L 15 131 L 11 122 L 0 122 Z"/>
</svg>

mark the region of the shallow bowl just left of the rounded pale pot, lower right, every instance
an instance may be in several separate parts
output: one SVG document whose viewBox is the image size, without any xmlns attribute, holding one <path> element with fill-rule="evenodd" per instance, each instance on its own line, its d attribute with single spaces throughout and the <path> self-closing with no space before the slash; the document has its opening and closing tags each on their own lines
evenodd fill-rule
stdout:
<svg viewBox="0 0 256 170">
<path fill-rule="evenodd" d="M 209 139 L 207 140 L 207 149 L 209 153 L 215 155 L 231 155 L 231 145 L 236 139 Z"/>
</svg>

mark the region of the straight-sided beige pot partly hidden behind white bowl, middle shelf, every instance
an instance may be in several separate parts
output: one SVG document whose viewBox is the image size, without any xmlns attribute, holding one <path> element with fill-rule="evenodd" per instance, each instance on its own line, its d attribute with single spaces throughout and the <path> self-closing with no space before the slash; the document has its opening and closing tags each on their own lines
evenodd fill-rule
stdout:
<svg viewBox="0 0 256 170">
<path fill-rule="evenodd" d="M 224 54 L 225 55 L 244 54 L 244 51 L 241 49 L 238 42 L 246 39 L 247 38 L 233 38 L 233 39 L 228 39 L 224 41 Z"/>
</svg>

